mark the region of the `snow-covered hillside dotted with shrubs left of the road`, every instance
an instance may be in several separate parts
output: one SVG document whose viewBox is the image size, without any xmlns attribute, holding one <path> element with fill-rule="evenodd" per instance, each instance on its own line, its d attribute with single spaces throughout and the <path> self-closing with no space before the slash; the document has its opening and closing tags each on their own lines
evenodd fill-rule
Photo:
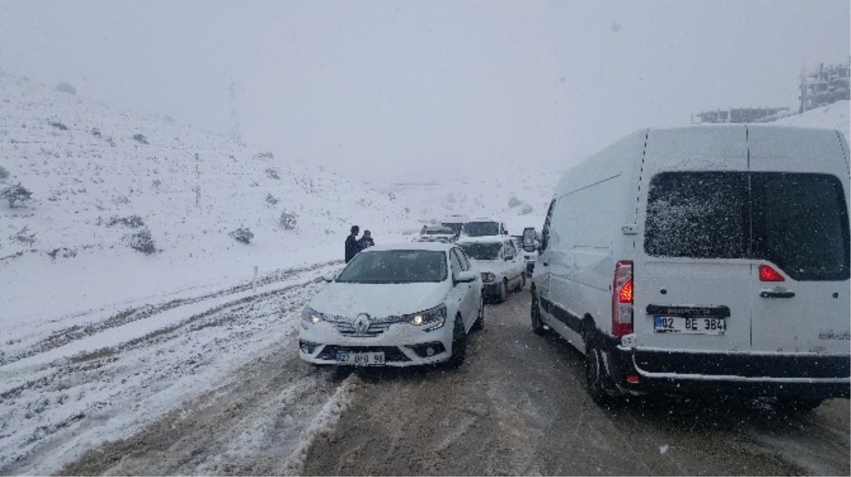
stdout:
<svg viewBox="0 0 851 477">
<path fill-rule="evenodd" d="M 385 241 L 406 223 L 386 194 L 321 167 L 15 76 L 0 76 L 0 167 L 0 190 L 32 193 L 0 202 L 0 326 L 341 258 L 351 224 Z M 147 233 L 153 253 L 130 248 Z"/>
</svg>

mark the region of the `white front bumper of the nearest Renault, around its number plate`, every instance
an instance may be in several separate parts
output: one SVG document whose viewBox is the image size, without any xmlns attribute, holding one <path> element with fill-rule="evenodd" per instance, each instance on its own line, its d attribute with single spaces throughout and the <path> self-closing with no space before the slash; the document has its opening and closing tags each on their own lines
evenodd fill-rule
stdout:
<svg viewBox="0 0 851 477">
<path fill-rule="evenodd" d="M 431 351 L 430 351 L 431 350 Z M 448 361 L 452 354 L 452 323 L 424 331 L 394 323 L 377 336 L 340 334 L 333 323 L 301 323 L 299 357 L 313 364 L 338 364 L 337 353 L 383 352 L 384 366 L 403 368 Z"/>
</svg>

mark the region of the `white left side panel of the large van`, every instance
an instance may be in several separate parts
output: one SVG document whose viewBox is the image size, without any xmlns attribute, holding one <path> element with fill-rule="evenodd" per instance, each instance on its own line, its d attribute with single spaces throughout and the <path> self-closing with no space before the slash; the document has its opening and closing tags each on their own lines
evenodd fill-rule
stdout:
<svg viewBox="0 0 851 477">
<path fill-rule="evenodd" d="M 614 247 L 630 210 L 631 171 L 645 132 L 637 132 L 568 171 L 557 188 L 546 253 L 551 326 L 581 349 L 580 321 L 611 331 Z M 627 171 L 624 173 L 624 171 Z M 634 208 L 634 205 L 632 205 Z"/>
</svg>

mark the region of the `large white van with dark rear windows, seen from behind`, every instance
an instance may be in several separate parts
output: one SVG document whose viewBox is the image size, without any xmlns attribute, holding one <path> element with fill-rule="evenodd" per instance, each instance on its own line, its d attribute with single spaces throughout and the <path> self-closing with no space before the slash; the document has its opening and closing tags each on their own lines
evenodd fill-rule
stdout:
<svg viewBox="0 0 851 477">
<path fill-rule="evenodd" d="M 851 394 L 851 152 L 779 126 L 643 130 L 564 174 L 532 326 L 585 354 L 594 401 Z"/>
</svg>

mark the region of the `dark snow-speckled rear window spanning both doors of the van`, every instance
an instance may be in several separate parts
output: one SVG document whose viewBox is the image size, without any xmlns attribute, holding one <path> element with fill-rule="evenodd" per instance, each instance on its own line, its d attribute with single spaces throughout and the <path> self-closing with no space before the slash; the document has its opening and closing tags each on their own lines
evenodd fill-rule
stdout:
<svg viewBox="0 0 851 477">
<path fill-rule="evenodd" d="M 648 255 L 760 259 L 796 280 L 851 278 L 837 177 L 665 172 L 650 182 L 647 212 Z"/>
</svg>

